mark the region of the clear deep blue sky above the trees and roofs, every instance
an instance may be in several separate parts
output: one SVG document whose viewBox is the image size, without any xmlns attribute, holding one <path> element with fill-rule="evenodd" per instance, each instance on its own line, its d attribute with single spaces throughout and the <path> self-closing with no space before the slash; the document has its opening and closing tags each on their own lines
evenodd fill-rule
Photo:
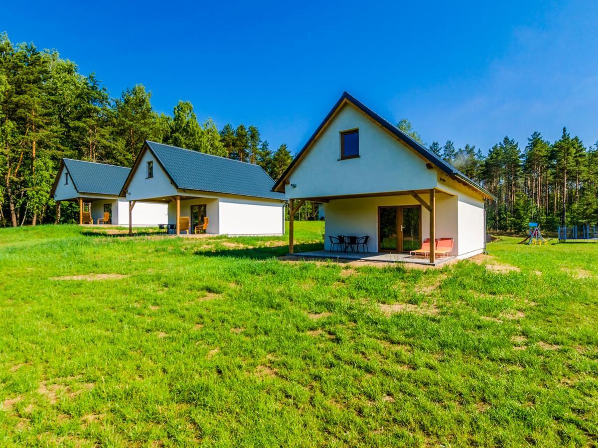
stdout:
<svg viewBox="0 0 598 448">
<path fill-rule="evenodd" d="M 428 144 L 598 140 L 596 1 L 59 3 L 2 2 L 0 30 L 271 148 L 301 149 L 344 90 Z"/>
</svg>

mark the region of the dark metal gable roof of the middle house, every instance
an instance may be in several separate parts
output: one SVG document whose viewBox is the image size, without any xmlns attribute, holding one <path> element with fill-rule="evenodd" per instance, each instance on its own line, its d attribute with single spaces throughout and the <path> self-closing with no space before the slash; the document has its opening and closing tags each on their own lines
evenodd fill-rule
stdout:
<svg viewBox="0 0 598 448">
<path fill-rule="evenodd" d="M 209 191 L 256 198 L 285 200 L 281 193 L 274 192 L 274 180 L 260 165 L 204 154 L 178 146 L 145 141 L 145 148 L 154 154 L 158 163 L 177 189 Z M 133 165 L 124 182 L 125 194 L 144 151 Z"/>
</svg>

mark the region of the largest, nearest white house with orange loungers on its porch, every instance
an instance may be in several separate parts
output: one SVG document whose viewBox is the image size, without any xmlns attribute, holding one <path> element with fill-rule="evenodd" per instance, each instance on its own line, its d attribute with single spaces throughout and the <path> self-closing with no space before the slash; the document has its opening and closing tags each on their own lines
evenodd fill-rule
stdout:
<svg viewBox="0 0 598 448">
<path fill-rule="evenodd" d="M 346 92 L 274 191 L 291 210 L 324 203 L 327 250 L 337 235 L 367 236 L 377 253 L 408 253 L 425 238 L 452 238 L 459 258 L 486 247 L 484 200 L 493 196 Z"/>
</svg>

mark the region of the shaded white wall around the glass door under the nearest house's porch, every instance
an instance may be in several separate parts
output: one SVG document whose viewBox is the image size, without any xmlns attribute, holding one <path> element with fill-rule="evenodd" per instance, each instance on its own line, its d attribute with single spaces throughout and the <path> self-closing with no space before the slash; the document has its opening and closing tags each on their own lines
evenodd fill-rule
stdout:
<svg viewBox="0 0 598 448">
<path fill-rule="evenodd" d="M 426 202 L 428 195 L 420 195 Z M 369 235 L 368 247 L 371 252 L 378 251 L 378 207 L 392 205 L 419 205 L 413 197 L 407 195 L 371 198 L 352 198 L 331 200 L 326 204 L 325 243 L 330 249 L 329 236 Z M 459 234 L 457 232 L 457 198 L 446 194 L 436 195 L 436 238 L 453 238 L 454 253 L 458 251 Z M 422 207 L 422 240 L 429 238 L 430 214 Z"/>
</svg>

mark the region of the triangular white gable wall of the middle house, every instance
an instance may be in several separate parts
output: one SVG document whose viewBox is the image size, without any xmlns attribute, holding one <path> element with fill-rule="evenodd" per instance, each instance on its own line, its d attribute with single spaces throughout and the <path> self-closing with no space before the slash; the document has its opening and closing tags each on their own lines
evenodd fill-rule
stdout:
<svg viewBox="0 0 598 448">
<path fill-rule="evenodd" d="M 154 162 L 154 177 L 146 179 L 147 162 L 150 160 Z M 170 179 L 168 179 L 160 164 L 158 164 L 151 152 L 145 150 L 138 169 L 133 173 L 133 177 L 127 188 L 127 201 L 148 200 L 176 194 L 175 186 L 170 183 Z"/>
</svg>

